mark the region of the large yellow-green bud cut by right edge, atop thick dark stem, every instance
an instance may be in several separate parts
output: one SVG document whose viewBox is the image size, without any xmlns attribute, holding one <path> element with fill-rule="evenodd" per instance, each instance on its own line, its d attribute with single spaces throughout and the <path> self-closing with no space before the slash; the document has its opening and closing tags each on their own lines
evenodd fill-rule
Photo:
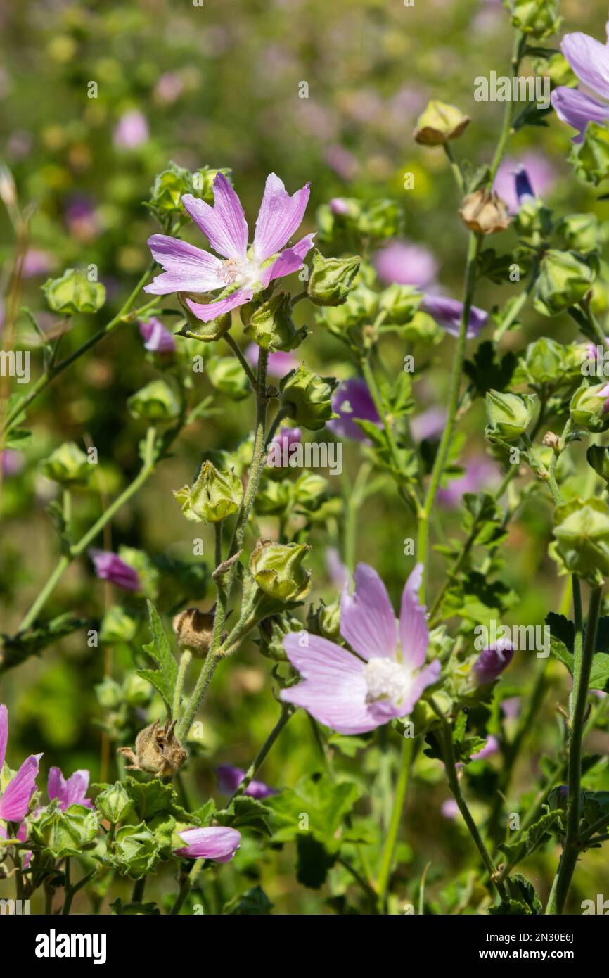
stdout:
<svg viewBox="0 0 609 978">
<path fill-rule="evenodd" d="M 563 573 L 592 586 L 609 575 L 609 507 L 601 499 L 572 499 L 554 510 L 555 542 L 549 554 Z"/>
</svg>

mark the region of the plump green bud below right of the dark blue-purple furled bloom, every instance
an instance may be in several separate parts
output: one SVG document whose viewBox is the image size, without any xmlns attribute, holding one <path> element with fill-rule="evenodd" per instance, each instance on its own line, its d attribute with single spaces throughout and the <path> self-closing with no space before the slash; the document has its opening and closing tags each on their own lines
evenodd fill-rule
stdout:
<svg viewBox="0 0 609 978">
<path fill-rule="evenodd" d="M 575 251 L 545 252 L 535 289 L 535 308 L 544 316 L 576 305 L 584 298 L 594 281 L 593 261 Z"/>
</svg>

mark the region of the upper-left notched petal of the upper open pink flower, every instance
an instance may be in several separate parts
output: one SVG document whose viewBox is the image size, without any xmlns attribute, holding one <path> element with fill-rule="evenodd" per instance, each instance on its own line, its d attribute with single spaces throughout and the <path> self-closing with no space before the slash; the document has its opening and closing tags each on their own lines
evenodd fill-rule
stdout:
<svg viewBox="0 0 609 978">
<path fill-rule="evenodd" d="M 214 251 L 223 254 L 225 258 L 244 258 L 247 250 L 247 221 L 241 201 L 223 173 L 218 173 L 213 182 L 213 198 L 213 207 L 192 194 L 185 194 L 182 203 L 208 238 Z M 275 250 L 278 251 L 279 248 Z"/>
</svg>

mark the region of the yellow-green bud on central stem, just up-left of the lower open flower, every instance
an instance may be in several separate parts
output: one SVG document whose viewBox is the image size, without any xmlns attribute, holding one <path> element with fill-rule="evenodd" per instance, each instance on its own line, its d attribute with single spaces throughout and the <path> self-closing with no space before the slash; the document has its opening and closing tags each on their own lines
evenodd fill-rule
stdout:
<svg viewBox="0 0 609 978">
<path fill-rule="evenodd" d="M 249 558 L 249 569 L 261 591 L 279 601 L 299 601 L 311 588 L 311 571 L 301 566 L 308 544 L 276 544 L 259 540 Z"/>
</svg>

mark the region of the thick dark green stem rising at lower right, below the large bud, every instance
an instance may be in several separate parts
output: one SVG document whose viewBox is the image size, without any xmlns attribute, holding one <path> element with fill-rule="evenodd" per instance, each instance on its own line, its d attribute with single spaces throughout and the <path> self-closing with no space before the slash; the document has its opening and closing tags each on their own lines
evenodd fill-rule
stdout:
<svg viewBox="0 0 609 978">
<path fill-rule="evenodd" d="M 587 709 L 592 658 L 596 645 L 596 630 L 602 602 L 602 587 L 593 588 L 587 611 L 586 639 L 583 649 L 574 655 L 573 694 L 569 709 L 569 772 L 567 783 L 569 800 L 567 806 L 567 829 L 562 857 L 554 877 L 545 913 L 561 914 L 569 894 L 569 887 L 580 853 L 580 819 L 582 790 L 582 740 Z"/>
</svg>

